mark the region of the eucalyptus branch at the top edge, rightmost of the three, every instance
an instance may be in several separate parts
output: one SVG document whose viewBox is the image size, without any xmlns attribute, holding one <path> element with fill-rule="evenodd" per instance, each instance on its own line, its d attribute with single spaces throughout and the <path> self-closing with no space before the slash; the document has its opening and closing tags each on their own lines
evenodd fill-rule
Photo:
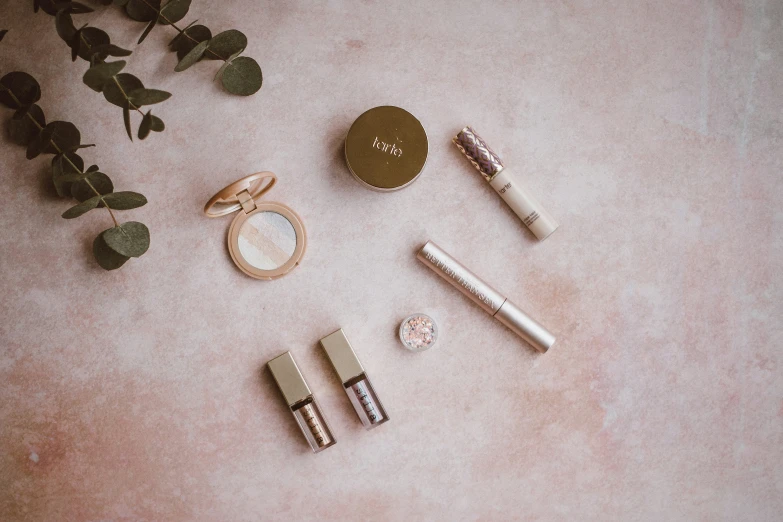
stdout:
<svg viewBox="0 0 783 522">
<path fill-rule="evenodd" d="M 248 56 L 239 56 L 247 47 L 247 37 L 236 29 L 229 29 L 212 36 L 209 28 L 194 25 L 193 21 L 184 29 L 176 23 L 185 18 L 191 0 L 101 0 L 124 6 L 126 14 L 133 20 L 147 23 L 138 43 L 144 41 L 156 25 L 170 25 L 177 36 L 169 43 L 176 51 L 179 62 L 176 72 L 188 69 L 202 58 L 222 60 L 224 63 L 215 74 L 223 87 L 232 94 L 249 96 L 258 92 L 263 83 L 263 74 L 258 63 Z"/>
</svg>

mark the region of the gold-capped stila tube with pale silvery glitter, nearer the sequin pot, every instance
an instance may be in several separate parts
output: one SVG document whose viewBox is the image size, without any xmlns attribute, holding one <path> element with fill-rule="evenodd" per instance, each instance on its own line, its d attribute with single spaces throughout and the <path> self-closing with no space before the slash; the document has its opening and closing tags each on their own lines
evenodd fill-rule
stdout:
<svg viewBox="0 0 783 522">
<path fill-rule="evenodd" d="M 370 378 L 367 377 L 342 328 L 321 339 L 321 346 L 326 350 L 326 355 L 329 356 L 364 427 L 370 430 L 389 420 L 389 415 L 375 394 Z"/>
</svg>

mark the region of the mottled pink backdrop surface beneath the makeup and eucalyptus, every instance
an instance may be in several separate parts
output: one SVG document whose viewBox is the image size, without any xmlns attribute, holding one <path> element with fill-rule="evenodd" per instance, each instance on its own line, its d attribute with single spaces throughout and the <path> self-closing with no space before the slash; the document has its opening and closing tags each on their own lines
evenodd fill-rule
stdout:
<svg viewBox="0 0 783 522">
<path fill-rule="evenodd" d="M 783 3 L 195 1 L 265 73 L 173 73 L 159 28 L 81 16 L 174 96 L 124 136 L 53 20 L 3 2 L 3 73 L 42 85 L 152 247 L 120 271 L 3 131 L 0 520 L 780 520 Z M 364 110 L 430 137 L 368 191 L 341 158 Z M 10 111 L 2 109 L 3 121 Z M 138 122 L 136 122 L 137 124 Z M 475 126 L 561 221 L 537 244 L 450 143 Z M 5 123 L 4 129 L 5 129 Z M 308 228 L 302 266 L 242 275 L 201 209 L 258 170 Z M 537 355 L 414 257 L 458 256 L 559 337 Z M 441 327 L 412 354 L 407 314 Z M 365 432 L 320 337 L 343 327 L 392 420 Z M 265 363 L 291 350 L 338 444 L 313 455 Z"/>
</svg>

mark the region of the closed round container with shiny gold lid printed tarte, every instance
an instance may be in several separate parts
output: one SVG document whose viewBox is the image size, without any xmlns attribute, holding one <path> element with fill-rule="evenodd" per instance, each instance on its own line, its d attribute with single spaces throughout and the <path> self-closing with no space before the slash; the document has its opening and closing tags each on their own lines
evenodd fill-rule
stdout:
<svg viewBox="0 0 783 522">
<path fill-rule="evenodd" d="M 421 122 L 390 105 L 375 107 L 356 118 L 345 138 L 345 161 L 351 174 L 381 191 L 412 183 L 427 162 L 428 150 Z"/>
</svg>

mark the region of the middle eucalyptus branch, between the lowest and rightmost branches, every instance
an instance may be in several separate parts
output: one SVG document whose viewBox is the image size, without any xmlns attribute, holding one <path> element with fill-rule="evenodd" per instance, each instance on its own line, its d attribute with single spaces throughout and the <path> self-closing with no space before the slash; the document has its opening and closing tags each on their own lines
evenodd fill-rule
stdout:
<svg viewBox="0 0 783 522">
<path fill-rule="evenodd" d="M 160 103 L 171 94 L 157 89 L 145 89 L 141 80 L 132 74 L 120 73 L 125 66 L 124 61 L 106 61 L 109 56 L 129 56 L 131 51 L 112 45 L 109 35 L 100 29 L 88 27 L 86 24 L 76 28 L 71 15 L 92 12 L 90 7 L 78 2 L 33 0 L 33 9 L 36 12 L 41 9 L 55 17 L 57 34 L 71 48 L 72 61 L 80 57 L 90 62 L 90 69 L 84 75 L 84 83 L 94 91 L 102 92 L 106 101 L 122 109 L 125 130 L 131 140 L 131 110 L 142 115 L 138 132 L 140 139 L 146 138 L 150 131 L 163 131 L 163 120 L 152 116 L 150 112 L 145 114 L 141 107 Z"/>
</svg>

